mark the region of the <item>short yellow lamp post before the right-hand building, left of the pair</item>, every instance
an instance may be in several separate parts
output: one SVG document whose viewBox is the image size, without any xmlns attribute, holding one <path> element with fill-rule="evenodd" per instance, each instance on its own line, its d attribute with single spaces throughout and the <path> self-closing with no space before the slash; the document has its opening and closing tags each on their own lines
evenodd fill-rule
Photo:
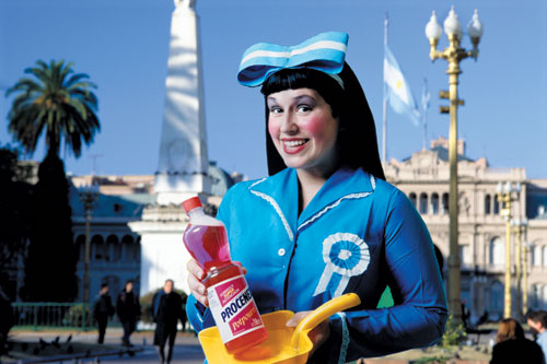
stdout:
<svg viewBox="0 0 547 364">
<path fill-rule="evenodd" d="M 519 200 L 521 184 L 499 183 L 497 187 L 498 201 L 503 203 L 501 215 L 505 220 L 505 286 L 503 294 L 503 317 L 511 317 L 511 202 Z"/>
</svg>

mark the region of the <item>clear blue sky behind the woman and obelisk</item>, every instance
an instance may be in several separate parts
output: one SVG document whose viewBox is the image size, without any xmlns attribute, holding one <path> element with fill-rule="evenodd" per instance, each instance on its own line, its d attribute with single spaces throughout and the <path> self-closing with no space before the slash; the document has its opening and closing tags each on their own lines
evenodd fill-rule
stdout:
<svg viewBox="0 0 547 364">
<path fill-rule="evenodd" d="M 257 89 L 236 82 L 241 55 L 257 42 L 294 45 L 326 31 L 349 33 L 347 60 L 363 85 L 381 143 L 383 23 L 388 43 L 420 101 L 423 78 L 431 91 L 428 140 L 449 136 L 439 114 L 447 90 L 446 62 L 429 59 L 424 26 L 455 5 L 465 27 L 478 9 L 485 34 L 475 62 L 462 62 L 459 137 L 466 154 L 492 167 L 525 167 L 547 178 L 547 5 L 542 0 L 197 0 L 200 16 L 209 158 L 251 178 L 266 174 L 264 102 Z M 172 0 L 0 0 L 0 92 L 37 59 L 74 62 L 98 85 L 102 131 L 67 171 L 152 174 L 158 167 Z M 470 47 L 465 36 L 463 44 Z M 440 48 L 447 46 L 443 34 Z M 0 143 L 11 142 L 0 97 Z M 422 129 L 388 110 L 388 157 L 421 149 Z M 382 145 L 380 145 L 382 148 Z M 42 160 L 44 150 L 33 156 Z M 95 162 L 95 164 L 94 164 Z"/>
</svg>

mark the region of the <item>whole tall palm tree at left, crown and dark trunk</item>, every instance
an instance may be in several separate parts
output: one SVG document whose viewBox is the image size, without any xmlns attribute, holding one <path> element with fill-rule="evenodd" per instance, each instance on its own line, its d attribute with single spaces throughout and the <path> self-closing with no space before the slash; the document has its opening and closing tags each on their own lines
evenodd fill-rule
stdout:
<svg viewBox="0 0 547 364">
<path fill-rule="evenodd" d="M 14 94 L 9 131 L 32 155 L 44 134 L 46 157 L 38 168 L 34 224 L 25 259 L 25 301 L 71 301 L 77 293 L 69 183 L 59 158 L 61 143 L 79 157 L 82 142 L 91 144 L 100 130 L 97 99 L 88 74 L 73 73 L 72 63 L 38 60 L 7 92 Z"/>
</svg>

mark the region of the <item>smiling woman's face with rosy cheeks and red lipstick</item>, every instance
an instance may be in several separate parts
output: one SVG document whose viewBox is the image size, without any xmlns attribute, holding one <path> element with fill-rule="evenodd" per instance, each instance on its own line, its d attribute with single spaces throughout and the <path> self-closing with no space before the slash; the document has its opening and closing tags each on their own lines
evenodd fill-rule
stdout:
<svg viewBox="0 0 547 364">
<path fill-rule="evenodd" d="M 336 165 L 338 119 L 312 89 L 284 90 L 266 98 L 268 131 L 288 167 L 325 176 Z"/>
</svg>

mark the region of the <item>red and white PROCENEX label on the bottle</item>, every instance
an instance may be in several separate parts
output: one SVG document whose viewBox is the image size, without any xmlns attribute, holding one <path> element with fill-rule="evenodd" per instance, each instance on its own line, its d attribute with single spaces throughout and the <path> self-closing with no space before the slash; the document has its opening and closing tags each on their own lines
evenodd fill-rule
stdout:
<svg viewBox="0 0 547 364">
<path fill-rule="evenodd" d="M 207 289 L 207 297 L 224 343 L 264 327 L 243 275 L 211 285 Z"/>
</svg>

